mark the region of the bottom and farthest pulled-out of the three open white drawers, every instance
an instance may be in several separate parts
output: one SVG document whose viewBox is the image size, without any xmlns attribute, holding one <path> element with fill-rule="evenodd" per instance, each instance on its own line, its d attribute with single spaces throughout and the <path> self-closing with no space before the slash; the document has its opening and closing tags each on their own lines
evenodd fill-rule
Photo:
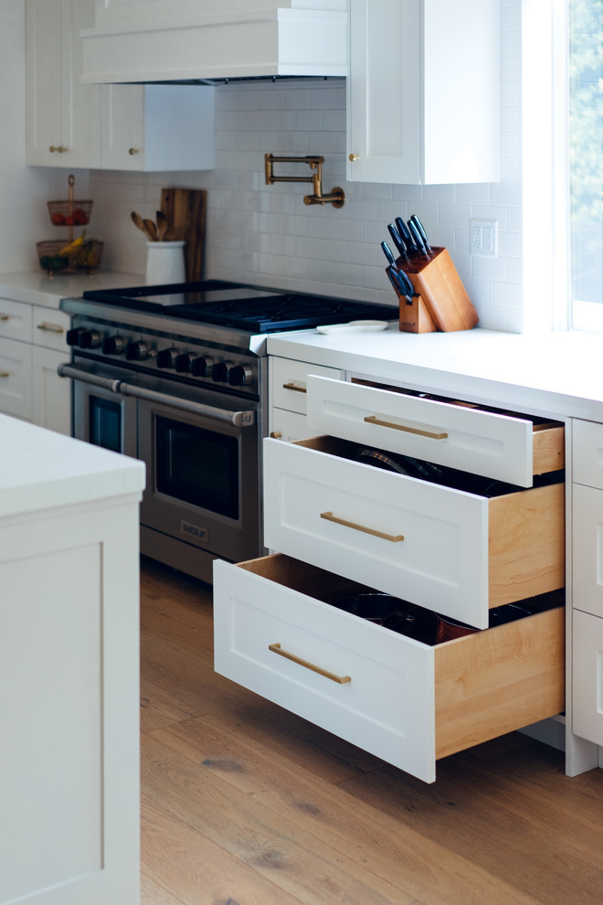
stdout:
<svg viewBox="0 0 603 905">
<path fill-rule="evenodd" d="M 431 646 L 328 602 L 353 589 L 280 554 L 217 560 L 217 672 L 428 783 L 439 758 L 563 710 L 563 607 Z"/>
</svg>

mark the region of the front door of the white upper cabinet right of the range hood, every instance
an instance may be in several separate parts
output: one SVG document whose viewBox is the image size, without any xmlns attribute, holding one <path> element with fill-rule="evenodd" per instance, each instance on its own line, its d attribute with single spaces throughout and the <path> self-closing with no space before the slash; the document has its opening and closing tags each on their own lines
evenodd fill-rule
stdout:
<svg viewBox="0 0 603 905">
<path fill-rule="evenodd" d="M 420 0 L 350 0 L 347 178 L 417 184 Z"/>
</svg>

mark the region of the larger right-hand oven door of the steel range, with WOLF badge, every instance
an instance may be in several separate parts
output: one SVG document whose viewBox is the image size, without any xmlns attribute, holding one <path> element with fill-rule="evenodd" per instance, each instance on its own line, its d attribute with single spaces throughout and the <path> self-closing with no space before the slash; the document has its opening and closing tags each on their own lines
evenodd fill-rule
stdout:
<svg viewBox="0 0 603 905">
<path fill-rule="evenodd" d="M 257 403 L 186 387 L 179 402 L 196 410 L 174 408 L 152 398 L 166 392 L 153 383 L 151 398 L 138 399 L 141 525 L 223 559 L 258 556 Z"/>
</svg>

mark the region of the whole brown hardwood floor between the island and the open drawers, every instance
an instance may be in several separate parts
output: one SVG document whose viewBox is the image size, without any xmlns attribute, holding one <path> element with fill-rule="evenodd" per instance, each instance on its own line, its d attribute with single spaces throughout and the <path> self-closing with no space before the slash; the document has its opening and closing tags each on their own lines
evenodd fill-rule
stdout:
<svg viewBox="0 0 603 905">
<path fill-rule="evenodd" d="M 213 671 L 211 589 L 143 561 L 143 905 L 599 905 L 603 771 L 519 733 L 420 783 Z"/>
</svg>

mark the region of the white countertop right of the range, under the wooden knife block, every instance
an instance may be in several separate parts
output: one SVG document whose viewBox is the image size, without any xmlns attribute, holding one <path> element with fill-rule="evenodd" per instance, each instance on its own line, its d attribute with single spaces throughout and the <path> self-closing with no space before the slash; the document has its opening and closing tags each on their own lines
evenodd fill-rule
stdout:
<svg viewBox="0 0 603 905">
<path fill-rule="evenodd" d="M 270 335 L 268 352 L 354 375 L 550 416 L 603 421 L 603 335 L 457 333 Z"/>
</svg>

